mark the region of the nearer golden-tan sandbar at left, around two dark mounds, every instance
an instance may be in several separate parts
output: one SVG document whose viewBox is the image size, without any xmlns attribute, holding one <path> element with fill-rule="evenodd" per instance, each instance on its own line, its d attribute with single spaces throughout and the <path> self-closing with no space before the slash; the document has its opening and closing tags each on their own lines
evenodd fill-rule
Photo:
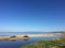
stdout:
<svg viewBox="0 0 65 48">
<path fill-rule="evenodd" d="M 16 36 L 16 37 L 11 37 L 11 36 L 0 36 L 0 41 L 17 41 L 17 39 L 23 39 L 26 41 L 29 37 L 24 37 L 24 36 Z"/>
</svg>

